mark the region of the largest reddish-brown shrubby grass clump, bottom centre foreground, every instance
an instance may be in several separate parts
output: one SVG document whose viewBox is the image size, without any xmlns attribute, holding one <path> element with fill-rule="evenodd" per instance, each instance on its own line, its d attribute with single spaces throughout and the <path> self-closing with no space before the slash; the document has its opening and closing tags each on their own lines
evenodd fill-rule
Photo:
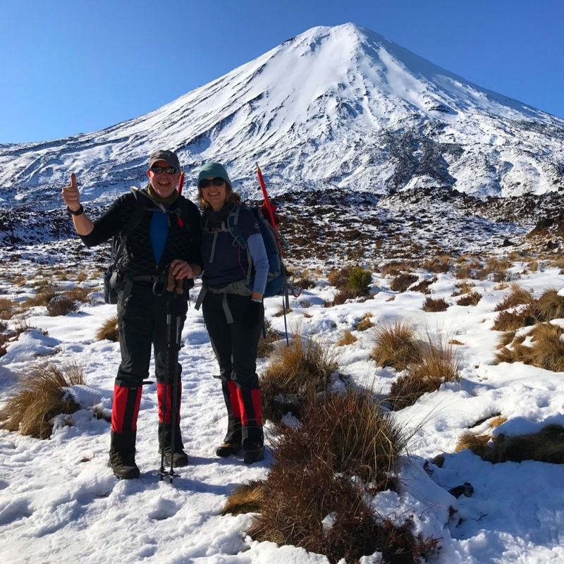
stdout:
<svg viewBox="0 0 564 564">
<path fill-rule="evenodd" d="M 250 536 L 324 554 L 331 564 L 376 551 L 393 563 L 431 553 L 439 539 L 415 538 L 409 522 L 396 528 L 364 503 L 367 493 L 394 484 L 388 472 L 404 448 L 405 437 L 371 393 L 318 396 L 302 425 L 276 441 Z"/>
</svg>

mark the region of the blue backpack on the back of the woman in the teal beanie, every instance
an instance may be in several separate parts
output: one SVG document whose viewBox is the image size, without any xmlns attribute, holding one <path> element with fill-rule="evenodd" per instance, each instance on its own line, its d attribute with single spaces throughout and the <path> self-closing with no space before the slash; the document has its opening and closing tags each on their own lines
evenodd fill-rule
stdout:
<svg viewBox="0 0 564 564">
<path fill-rule="evenodd" d="M 239 223 L 239 212 L 243 204 L 237 204 L 227 217 L 227 226 L 223 227 L 222 231 L 226 233 L 231 233 L 235 241 L 247 251 L 247 260 L 249 262 L 249 271 L 247 272 L 247 279 L 245 280 L 245 286 L 252 290 L 252 284 L 254 281 L 254 269 L 252 267 L 252 257 L 249 252 L 249 246 L 247 241 L 243 236 L 238 223 Z M 282 250 L 280 245 L 278 245 L 278 240 L 281 243 L 286 244 L 286 242 L 281 238 L 280 234 L 274 229 L 270 221 L 264 217 L 262 214 L 262 209 L 258 206 L 249 206 L 251 212 L 255 215 L 257 223 L 259 224 L 260 234 L 262 235 L 262 240 L 264 242 L 264 248 L 266 249 L 266 257 L 269 261 L 269 274 L 266 278 L 266 287 L 264 288 L 264 298 L 271 298 L 274 295 L 280 293 L 286 298 L 288 303 L 288 280 L 286 265 L 282 259 Z M 205 227 L 204 227 L 205 230 Z M 288 305 L 286 305 L 288 307 Z"/>
</svg>

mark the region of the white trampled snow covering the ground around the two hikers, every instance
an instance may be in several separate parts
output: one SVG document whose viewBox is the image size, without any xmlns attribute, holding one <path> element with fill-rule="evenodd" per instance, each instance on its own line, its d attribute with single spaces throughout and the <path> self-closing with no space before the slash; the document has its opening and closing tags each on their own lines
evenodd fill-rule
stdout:
<svg viewBox="0 0 564 564">
<path fill-rule="evenodd" d="M 515 273 L 523 271 L 515 264 Z M 431 276 L 423 271 L 420 278 Z M 508 421 L 498 428 L 506 435 L 537 430 L 537 424 L 564 424 L 562 373 L 523 364 L 494 365 L 496 339 L 491 331 L 494 307 L 508 289 L 493 281 L 476 281 L 483 295 L 475 307 L 455 305 L 451 297 L 456 279 L 439 274 L 431 286 L 433 298 L 452 304 L 446 312 L 426 313 L 422 293 L 394 294 L 391 279 L 374 274 L 374 299 L 323 307 L 335 289 L 320 274 L 317 286 L 291 298 L 290 327 L 333 346 L 344 329 L 358 341 L 338 348 L 341 370 L 357 384 L 387 391 L 396 372 L 376 368 L 369 353 L 372 331 L 355 331 L 367 312 L 378 325 L 401 318 L 421 336 L 454 338 L 460 353 L 462 381 L 443 385 L 415 405 L 398 412 L 407 429 L 419 428 L 410 443 L 410 456 L 401 470 L 400 494 L 384 492 L 373 501 L 382 515 L 398 522 L 412 516 L 415 532 L 442 537 L 441 551 L 429 561 L 441 564 L 564 562 L 564 466 L 544 462 L 505 462 L 492 465 L 468 450 L 455 453 L 460 435 L 477 422 L 498 413 Z M 558 269 L 523 275 L 520 283 L 535 297 L 547 288 L 560 288 Z M 97 283 L 87 281 L 82 284 Z M 376 289 L 378 288 L 378 289 Z M 22 300 L 25 288 L 0 281 L 2 297 Z M 197 289 L 192 290 L 195 293 Z M 18 293 L 19 292 L 19 293 Z M 392 298 L 395 296 L 393 300 Z M 283 318 L 273 317 L 280 298 L 266 300 L 266 317 L 283 330 Z M 96 341 L 94 334 L 115 314 L 100 293 L 80 312 L 48 317 L 42 307 L 31 310 L 27 321 L 38 329 L 23 333 L 0 357 L 0 400 L 13 393 L 16 374 L 30 362 L 49 358 L 64 363 L 78 360 L 85 368 L 86 386 L 72 393 L 85 405 L 111 408 L 114 375 L 119 362 L 117 343 Z M 305 317 L 304 314 L 307 314 Z M 10 323 L 13 323 L 11 321 Z M 51 439 L 40 441 L 0 431 L 0 561 L 47 564 L 159 563 L 159 564 L 317 564 L 324 556 L 300 548 L 257 543 L 247 537 L 252 515 L 221 516 L 227 496 L 238 484 L 262 479 L 272 460 L 252 466 L 240 457 L 219 459 L 214 449 L 226 427 L 225 408 L 216 362 L 202 316 L 193 307 L 183 331 L 182 422 L 190 465 L 178 470 L 174 483 L 159 482 L 157 454 L 157 393 L 146 386 L 137 431 L 138 480 L 118 481 L 107 467 L 110 425 L 88 409 L 76 412 L 73 426 L 56 419 Z M 261 361 L 261 367 L 264 361 Z M 267 445 L 272 427 L 267 424 Z M 474 431 L 486 431 L 484 422 Z M 424 462 L 445 453 L 442 468 Z M 448 489 L 470 482 L 471 497 L 455 499 Z M 449 518 L 449 510 L 456 513 Z M 450 510 L 452 514 L 452 510 Z M 374 557 L 363 564 L 376 563 Z"/>
</svg>

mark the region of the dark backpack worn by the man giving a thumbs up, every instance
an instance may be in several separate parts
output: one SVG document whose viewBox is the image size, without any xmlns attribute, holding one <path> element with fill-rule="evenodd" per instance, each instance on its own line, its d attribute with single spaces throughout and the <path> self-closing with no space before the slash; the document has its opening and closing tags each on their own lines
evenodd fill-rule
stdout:
<svg viewBox="0 0 564 564">
<path fill-rule="evenodd" d="M 125 250 L 125 243 L 128 240 L 128 235 L 139 225 L 143 216 L 147 212 L 148 203 L 152 201 L 147 195 L 146 190 L 140 190 L 131 187 L 131 192 L 135 195 L 135 209 L 133 214 L 131 214 L 127 225 L 125 228 L 118 231 L 114 235 L 114 239 L 111 242 L 111 259 L 108 269 L 104 272 L 104 302 L 106 304 L 116 304 L 118 302 L 118 291 L 123 287 L 123 273 L 120 272 L 120 267 L 123 262 L 123 251 Z M 139 197 L 139 195 L 143 197 Z M 157 209 L 149 209 L 151 212 L 156 212 Z M 168 214 L 176 214 L 176 209 L 171 209 L 166 211 Z M 184 221 L 184 225 L 188 228 L 188 223 Z M 193 285 L 194 281 L 192 281 Z"/>
</svg>

